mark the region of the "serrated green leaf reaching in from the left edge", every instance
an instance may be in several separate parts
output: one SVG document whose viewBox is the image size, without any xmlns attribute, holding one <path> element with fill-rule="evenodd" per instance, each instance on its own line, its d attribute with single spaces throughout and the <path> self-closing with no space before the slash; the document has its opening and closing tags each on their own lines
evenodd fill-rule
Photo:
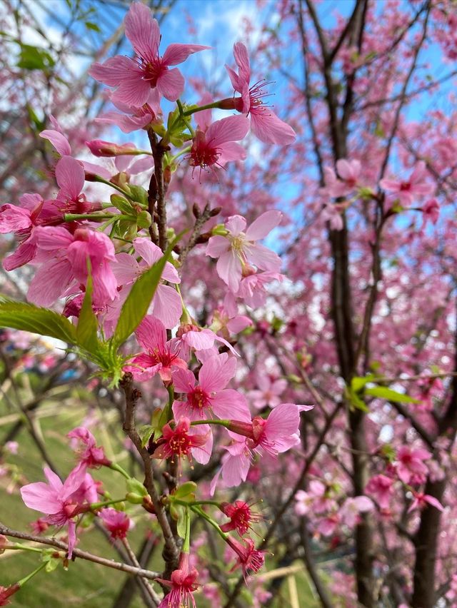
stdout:
<svg viewBox="0 0 457 608">
<path fill-rule="evenodd" d="M 77 343 L 76 328 L 64 315 L 3 296 L 0 296 L 0 327 L 48 335 L 70 344 Z"/>
</svg>

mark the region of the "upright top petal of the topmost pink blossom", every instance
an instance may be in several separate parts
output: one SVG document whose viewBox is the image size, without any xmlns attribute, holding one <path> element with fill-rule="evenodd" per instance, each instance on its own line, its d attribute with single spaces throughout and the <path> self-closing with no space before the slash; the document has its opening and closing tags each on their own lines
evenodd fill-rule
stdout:
<svg viewBox="0 0 457 608">
<path fill-rule="evenodd" d="M 141 2 L 133 2 L 124 18 L 126 36 L 138 56 L 155 59 L 159 55 L 160 30 L 151 11 Z"/>
</svg>

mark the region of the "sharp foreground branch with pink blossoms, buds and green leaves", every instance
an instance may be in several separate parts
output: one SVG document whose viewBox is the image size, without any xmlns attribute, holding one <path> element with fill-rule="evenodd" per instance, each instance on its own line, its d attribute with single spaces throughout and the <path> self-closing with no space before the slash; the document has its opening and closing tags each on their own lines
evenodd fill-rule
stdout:
<svg viewBox="0 0 457 608">
<path fill-rule="evenodd" d="M 63 549 L 63 553 L 41 552 L 47 572 L 60 562 L 67 567 L 69 560 L 83 557 L 154 579 L 157 591 L 144 583 L 152 604 L 177 607 L 194 602 L 192 593 L 199 587 L 191 554 L 191 522 L 209 525 L 236 556 L 234 567 L 241 567 L 246 582 L 251 572 L 263 567 L 264 552 L 256 549 L 250 536 L 261 515 L 243 500 L 231 504 L 216 500 L 214 494 L 217 487 L 244 482 L 254 460 L 264 455 L 276 458 L 298 445 L 301 411 L 311 408 L 278 402 L 268 415 L 252 416 L 243 393 L 228 387 L 234 383 L 239 358 L 233 347 L 235 335 L 251 324 L 238 315 L 238 303 L 258 307 L 266 298 L 266 286 L 282 278 L 280 258 L 261 244 L 280 225 L 281 213 L 266 211 L 247 227 L 239 215 L 214 223 L 220 208 L 207 204 L 201 211 L 194 206 L 196 221 L 181 245 L 185 230 L 175 236 L 169 225 L 167 193 L 182 163 L 188 163 L 202 183 L 217 178 L 227 163 L 246 159 L 246 148 L 239 142 L 250 127 L 254 136 L 270 145 L 292 143 L 295 133 L 263 103 L 267 94 L 263 85 L 251 84 L 243 44 L 233 47 L 238 71 L 227 66 L 234 95 L 220 100 L 206 96 L 200 103 L 188 104 L 181 101 L 184 76 L 174 66 L 209 47 L 171 44 L 160 55 L 159 26 L 141 3 L 131 4 L 124 23 L 134 59 L 116 56 L 89 71 L 111 87 L 108 94 L 116 108 L 98 121 L 124 133 L 144 133 L 151 152 L 133 143 L 87 141 L 94 156 L 114 159 L 102 166 L 75 158 L 55 119 L 53 128 L 41 131 L 57 157 L 52 174 L 58 192 L 49 200 L 25 193 L 19 205 L 6 203 L 0 208 L 0 232 L 14 233 L 19 241 L 4 260 L 4 268 L 36 266 L 28 303 L 3 298 L 0 324 L 63 340 L 79 358 L 89 361 L 112 390 L 124 392 L 123 429 L 138 452 L 144 480 L 110 460 L 86 427 L 77 427 L 69 438 L 74 447 L 79 445 L 79 462 L 69 475 L 61 479 L 45 467 L 47 482 L 21 487 L 25 505 L 44 516 L 36 522 L 36 530 L 64 528 L 67 544 L 7 527 L 2 530 L 11 537 Z M 176 103 L 166 120 L 163 98 Z M 212 121 L 213 108 L 236 113 Z M 147 191 L 132 180 L 143 172 L 150 173 Z M 93 183 L 103 195 L 91 191 Z M 96 196 L 103 198 L 99 201 Z M 216 273 L 226 290 L 224 325 L 199 325 L 181 290 L 181 269 L 199 243 L 206 243 L 199 253 L 202 259 L 206 254 L 217 260 Z M 142 395 L 135 383 L 148 386 L 151 380 L 161 385 L 161 406 L 154 409 L 149 424 L 138 427 Z M 213 451 L 223 456 L 211 487 L 186 481 L 186 461 L 206 465 Z M 154 462 L 165 463 L 163 474 L 171 480 L 168 490 Z M 113 482 L 116 500 L 89 472 L 99 467 L 119 475 L 121 483 Z M 164 572 L 160 576 L 139 568 L 128 544 L 134 565 L 107 564 L 109 560 L 76 547 L 89 515 L 106 527 L 112 539 L 125 543 L 134 512 L 152 517 L 161 530 Z M 228 521 L 221 523 L 221 517 Z M 13 548 L 8 543 L 5 547 Z M 160 590 L 162 600 L 157 595 Z M 5 599 L 8 593 L 4 592 Z"/>
</svg>

